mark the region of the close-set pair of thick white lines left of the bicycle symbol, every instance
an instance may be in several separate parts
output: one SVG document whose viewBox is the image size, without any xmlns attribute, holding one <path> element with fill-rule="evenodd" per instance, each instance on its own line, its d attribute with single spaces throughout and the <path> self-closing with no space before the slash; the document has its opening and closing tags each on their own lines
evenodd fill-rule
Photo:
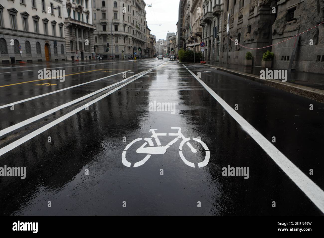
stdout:
<svg viewBox="0 0 324 238">
<path fill-rule="evenodd" d="M 33 131 L 33 132 L 27 134 L 26 136 L 24 136 L 24 137 L 18 139 L 17 141 L 12 142 L 12 143 L 6 145 L 5 147 L 3 147 L 3 148 L 0 149 L 0 156 L 3 155 L 3 154 L 5 154 L 5 153 L 7 153 L 8 151 L 10 151 L 10 150 L 16 148 L 17 146 L 23 144 L 24 142 L 26 142 L 26 141 L 32 139 L 33 137 L 35 137 L 35 136 L 41 134 L 41 133 L 44 132 L 45 130 L 48 130 L 48 129 L 50 129 L 51 127 L 55 126 L 56 124 L 58 124 L 58 123 L 64 121 L 65 119 L 71 117 L 72 115 L 76 114 L 77 112 L 79 112 L 79 111 L 85 109 L 85 106 L 86 106 L 86 105 L 87 105 L 87 106 L 90 106 L 90 105 L 92 105 L 92 104 L 98 102 L 98 101 L 101 100 L 102 98 L 104 98 L 104 97 L 106 97 L 106 96 L 112 94 L 113 92 L 115 92 L 115 91 L 121 89 L 123 86 L 125 86 L 125 85 L 127 85 L 127 84 L 129 84 L 129 83 L 131 83 L 131 82 L 133 82 L 133 81 L 135 81 L 136 79 L 142 77 L 143 75 L 145 75 L 145 74 L 151 72 L 152 70 L 156 69 L 157 67 L 159 67 L 159 66 L 161 66 L 161 65 L 163 65 L 163 64 L 165 64 L 165 63 L 162 63 L 162 64 L 160 64 L 160 65 L 158 65 L 158 66 L 155 66 L 155 67 L 153 67 L 153 68 L 150 68 L 150 69 L 148 69 L 148 70 L 146 70 L 146 71 L 143 71 L 143 72 L 141 72 L 141 73 L 134 74 L 134 75 L 132 75 L 132 76 L 130 76 L 130 77 L 124 79 L 124 80 L 121 80 L 120 82 L 117 82 L 117 83 L 115 83 L 115 84 L 112 84 L 112 85 L 109 85 L 109 86 L 104 87 L 104 88 L 102 88 L 102 89 L 99 89 L 99 90 L 97 90 L 96 92 L 90 93 L 90 94 L 88 94 L 88 95 L 86 95 L 86 96 L 83 96 L 83 97 L 80 97 L 80 98 L 78 98 L 78 99 L 75 99 L 75 100 L 73 100 L 73 101 L 71 101 L 71 102 L 69 102 L 69 103 L 65 103 L 65 104 L 63 104 L 62 106 L 59 106 L 59 107 L 53 108 L 53 109 L 51 109 L 51 110 L 49 110 L 49 111 L 46 111 L 46 112 L 44 112 L 44 113 L 42 113 L 42 114 L 40 114 L 40 115 L 38 115 L 38 116 L 32 117 L 32 118 L 27 119 L 27 120 L 25 120 L 25 121 L 22 121 L 22 122 L 20 122 L 20 123 L 18 123 L 18 124 L 16 124 L 16 125 L 13 125 L 13 126 L 8 127 L 8 128 L 6 128 L 6 129 L 4 129 L 4 130 L 1 130 L 1 131 L 0 131 L 0 135 L 4 135 L 4 134 L 6 134 L 6 133 L 9 133 L 10 131 L 16 130 L 16 129 L 18 129 L 18 128 L 22 127 L 22 126 L 25 126 L 25 125 L 27 125 L 27 124 L 33 122 L 33 121 L 36 121 L 36 120 L 38 120 L 38 119 L 40 119 L 40 118 L 43 118 L 43 117 L 45 117 L 45 116 L 47 116 L 47 115 L 50 115 L 51 113 L 53 113 L 53 112 L 55 112 L 55 111 L 57 111 L 57 110 L 60 110 L 60 109 L 62 109 L 62 108 L 64 108 L 64 107 L 67 107 L 67 106 L 72 105 L 72 104 L 74 104 L 74 103 L 76 103 L 76 102 L 79 102 L 79 101 L 81 101 L 81 100 L 84 100 L 84 99 L 86 99 L 86 98 L 88 98 L 88 97 L 90 97 L 90 96 L 93 96 L 93 95 L 95 95 L 95 94 L 98 94 L 99 92 L 102 92 L 102 91 L 104 91 L 104 90 L 106 90 L 106 89 L 108 89 L 108 88 L 110 88 L 110 87 L 113 87 L 113 86 L 115 86 L 115 85 L 121 84 L 121 83 L 125 82 L 126 80 L 128 80 L 128 79 L 130 79 L 130 78 L 134 78 L 134 79 L 129 80 L 128 82 L 126 82 L 126 83 L 124 83 L 124 84 L 122 84 L 122 85 L 116 87 L 115 89 L 109 91 L 108 93 L 105 93 L 104 95 L 99 96 L 99 97 L 97 97 L 96 99 L 94 99 L 94 100 L 92 100 L 92 101 L 90 101 L 90 102 L 84 104 L 83 106 L 74 109 L 73 111 L 71 111 L 71 112 L 65 114 L 64 116 L 62 116 L 62 117 L 60 117 L 60 118 L 58 118 L 58 119 L 55 119 L 54 121 L 50 122 L 49 124 L 47 124 L 47 125 L 45 125 L 45 126 L 42 126 L 41 128 L 39 128 L 39 129 L 37 129 L 37 130 L 35 130 L 35 131 Z"/>
</svg>

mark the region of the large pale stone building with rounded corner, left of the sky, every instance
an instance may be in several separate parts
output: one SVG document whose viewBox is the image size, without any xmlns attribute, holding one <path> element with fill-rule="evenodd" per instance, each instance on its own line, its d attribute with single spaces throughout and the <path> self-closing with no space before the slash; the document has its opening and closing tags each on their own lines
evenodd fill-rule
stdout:
<svg viewBox="0 0 324 238">
<path fill-rule="evenodd" d="M 146 11 L 143 0 L 94 0 L 95 52 L 103 58 L 144 55 Z M 107 43 L 109 51 L 107 54 Z M 138 48 L 141 47 L 141 51 Z M 122 52 L 123 51 L 123 52 Z"/>
</svg>

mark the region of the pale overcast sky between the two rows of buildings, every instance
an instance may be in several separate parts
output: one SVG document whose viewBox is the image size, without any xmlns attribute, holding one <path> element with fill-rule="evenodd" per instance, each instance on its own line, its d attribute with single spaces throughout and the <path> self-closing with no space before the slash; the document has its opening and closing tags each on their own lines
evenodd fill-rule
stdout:
<svg viewBox="0 0 324 238">
<path fill-rule="evenodd" d="M 144 2 L 147 26 L 151 34 L 156 36 L 156 41 L 166 40 L 168 31 L 177 33 L 179 0 L 144 0 Z M 149 7 L 148 4 L 152 6 Z"/>
</svg>

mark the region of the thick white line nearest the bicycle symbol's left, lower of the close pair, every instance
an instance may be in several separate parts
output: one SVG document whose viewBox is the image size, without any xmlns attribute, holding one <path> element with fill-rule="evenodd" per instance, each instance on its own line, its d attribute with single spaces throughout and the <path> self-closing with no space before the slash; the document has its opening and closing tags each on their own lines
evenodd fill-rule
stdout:
<svg viewBox="0 0 324 238">
<path fill-rule="evenodd" d="M 81 110 L 84 110 L 86 105 L 90 106 L 90 105 L 92 105 L 92 104 L 98 102 L 98 101 L 101 100 L 102 98 L 105 98 L 106 96 L 112 94 L 113 92 L 115 92 L 115 91 L 121 89 L 123 86 L 128 85 L 129 83 L 132 83 L 132 82 L 135 81 L 136 79 L 139 79 L 139 78 L 142 77 L 143 75 L 145 75 L 145 74 L 151 72 L 152 70 L 154 70 L 155 68 L 157 68 L 157 67 L 159 67 L 159 66 L 161 66 L 161 65 L 163 65 L 163 64 L 165 64 L 165 63 L 162 63 L 162 64 L 160 64 L 160 65 L 158 65 L 158 66 L 155 66 L 155 67 L 153 67 L 153 68 L 151 68 L 151 69 L 148 69 L 147 71 L 144 71 L 144 73 L 141 72 L 141 73 L 143 73 L 143 74 L 141 74 L 141 75 L 137 75 L 134 79 L 132 79 L 132 80 L 130 80 L 130 81 L 128 81 L 128 82 L 126 82 L 126 83 L 124 83 L 124 84 L 122 84 L 122 85 L 116 87 L 115 89 L 109 91 L 108 93 L 106 93 L 106 94 L 104 94 L 104 95 L 102 95 L 102 96 L 97 97 L 96 99 L 94 99 L 94 100 L 92 100 L 92 101 L 90 101 L 90 102 L 84 104 L 83 106 L 81 106 L 81 107 L 79 107 L 79 108 L 74 109 L 73 111 L 71 111 L 71 112 L 69 112 L 69 113 L 63 115 L 62 117 L 53 120 L 52 122 L 48 123 L 47 125 L 42 126 L 41 128 L 39 128 L 39 129 L 37 129 L 37 130 L 35 130 L 35 131 L 33 131 L 33 132 L 30 132 L 29 134 L 25 135 L 24 137 L 18 139 L 17 141 L 14 141 L 14 142 L 12 142 L 12 143 L 6 145 L 5 147 L 3 147 L 3 148 L 0 149 L 0 156 L 3 155 L 3 154 L 5 154 L 5 153 L 7 153 L 8 151 L 11 151 L 12 149 L 16 148 L 17 146 L 19 146 L 19 145 L 25 143 L 26 141 L 29 141 L 30 139 L 34 138 L 35 136 L 41 134 L 42 132 L 44 132 L 44 131 L 46 131 L 46 130 L 48 130 L 48 129 L 50 129 L 51 127 L 53 127 L 53 126 L 55 126 L 56 124 L 58 124 L 58 123 L 64 121 L 65 119 L 67 119 L 67 118 L 73 116 L 73 115 L 76 114 L 77 112 L 79 112 L 79 111 L 81 111 Z M 135 75 L 133 75 L 133 76 L 135 76 Z M 131 77 L 133 77 L 133 76 L 131 76 Z"/>
</svg>

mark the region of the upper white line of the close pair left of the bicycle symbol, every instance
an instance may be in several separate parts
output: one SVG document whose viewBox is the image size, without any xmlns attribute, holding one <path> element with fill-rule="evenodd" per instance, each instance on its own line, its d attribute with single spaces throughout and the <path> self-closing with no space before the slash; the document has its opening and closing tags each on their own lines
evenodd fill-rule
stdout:
<svg viewBox="0 0 324 238">
<path fill-rule="evenodd" d="M 64 104 L 61 105 L 61 106 L 58 106 L 58 107 L 56 107 L 56 108 L 53 108 L 53 109 L 48 110 L 48 111 L 46 111 L 46 112 L 43 112 L 43 113 L 41 113 L 41 114 L 39 114 L 39 115 L 37 115 L 37 116 L 31 117 L 31 118 L 29 118 L 29 119 L 26 119 L 26 120 L 24 120 L 24 121 L 21 121 L 21 122 L 15 124 L 15 125 L 12 125 L 12 126 L 9 126 L 9 127 L 5 128 L 5 129 L 3 129 L 3 130 L 0 130 L 0 138 L 1 138 L 3 135 L 5 135 L 5 134 L 7 134 L 7 133 L 9 133 L 9 132 L 11 132 L 11 131 L 17 130 L 17 129 L 20 128 L 20 127 L 26 126 L 26 125 L 28 125 L 28 124 L 30 124 L 30 123 L 36 121 L 36 120 L 39 120 L 39 119 L 41 119 L 41 118 L 43 118 L 43 117 L 46 117 L 46 116 L 48 116 L 48 115 L 50 115 L 50 114 L 52 114 L 52 113 L 54 113 L 54 112 L 56 112 L 56 111 L 58 111 L 58 110 L 61 110 L 61 109 L 66 108 L 66 107 L 68 107 L 68 106 L 71 106 L 72 104 L 75 104 L 75 103 L 77 103 L 77 102 L 80 102 L 80 101 L 82 101 L 82 100 L 88 98 L 88 97 L 91 97 L 91 96 L 93 96 L 93 95 L 96 95 L 96 94 L 98 94 L 98 93 L 100 93 L 100 92 L 102 92 L 102 91 L 104 91 L 104 90 L 106 90 L 106 89 L 108 89 L 108 88 L 111 88 L 111 87 L 113 87 L 113 86 L 116 86 L 116 85 L 118 85 L 118 84 L 121 84 L 121 83 L 125 82 L 126 80 L 128 80 L 128 79 L 130 79 L 130 78 L 133 78 L 133 77 L 136 77 L 136 76 L 139 75 L 139 74 L 142 74 L 143 72 L 145 72 L 145 71 L 142 71 L 142 72 L 140 72 L 140 73 L 138 73 L 138 74 L 134 74 L 134 75 L 132 75 L 132 76 L 130 76 L 130 77 L 128 77 L 128 78 L 125 78 L 125 79 L 123 79 L 123 80 L 121 80 L 121 81 L 119 81 L 119 82 L 117 82 L 117 83 L 114 83 L 114 84 L 111 84 L 111 85 L 106 86 L 106 87 L 104 87 L 104 88 L 101 88 L 101 89 L 99 89 L 99 90 L 97 90 L 97 91 L 95 91 L 95 92 L 89 93 L 89 94 L 87 94 L 87 95 L 85 95 L 85 96 L 82 96 L 82 97 L 76 98 L 76 99 L 73 100 L 73 101 L 70 101 L 70 102 L 64 103 Z"/>
</svg>

